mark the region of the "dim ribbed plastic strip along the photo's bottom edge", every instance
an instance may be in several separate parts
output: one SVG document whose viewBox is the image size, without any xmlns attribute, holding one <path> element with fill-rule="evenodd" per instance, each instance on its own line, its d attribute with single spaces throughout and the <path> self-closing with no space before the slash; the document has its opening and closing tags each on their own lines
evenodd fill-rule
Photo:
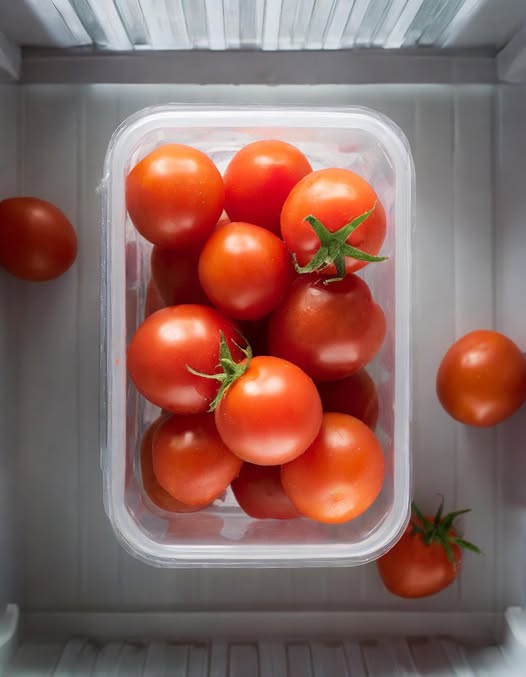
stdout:
<svg viewBox="0 0 526 677">
<path fill-rule="evenodd" d="M 405 640 L 22 644 L 6 677 L 519 677 L 497 646 Z"/>
</svg>

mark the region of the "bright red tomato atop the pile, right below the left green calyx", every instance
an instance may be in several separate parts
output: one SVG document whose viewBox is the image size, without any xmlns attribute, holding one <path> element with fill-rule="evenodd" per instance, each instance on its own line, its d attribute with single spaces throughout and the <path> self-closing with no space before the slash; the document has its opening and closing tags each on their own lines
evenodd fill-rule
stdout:
<svg viewBox="0 0 526 677">
<path fill-rule="evenodd" d="M 320 429 L 312 380 L 277 357 L 254 357 L 215 410 L 223 442 L 244 461 L 279 465 L 302 454 Z"/>
</svg>

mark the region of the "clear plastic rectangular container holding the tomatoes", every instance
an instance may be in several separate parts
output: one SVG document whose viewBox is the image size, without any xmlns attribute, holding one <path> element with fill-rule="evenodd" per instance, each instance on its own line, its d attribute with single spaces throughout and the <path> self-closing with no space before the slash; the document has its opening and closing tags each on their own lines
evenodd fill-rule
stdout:
<svg viewBox="0 0 526 677">
<path fill-rule="evenodd" d="M 386 458 L 381 495 L 358 519 L 328 526 L 307 519 L 254 520 L 230 491 L 203 512 L 170 515 L 144 494 L 142 433 L 159 410 L 126 373 L 126 346 L 143 316 L 151 245 L 126 214 L 128 171 L 159 145 L 195 146 L 224 170 L 258 139 L 300 148 L 314 169 L 347 167 L 375 188 L 387 215 L 382 253 L 360 271 L 387 320 L 383 347 L 368 366 L 377 385 L 377 435 Z M 411 495 L 411 230 L 414 170 L 406 138 L 388 118 L 364 108 L 219 109 L 163 106 L 128 118 L 106 155 L 102 255 L 102 468 L 106 511 L 124 547 L 157 566 L 349 566 L 379 557 L 409 519 Z"/>
</svg>

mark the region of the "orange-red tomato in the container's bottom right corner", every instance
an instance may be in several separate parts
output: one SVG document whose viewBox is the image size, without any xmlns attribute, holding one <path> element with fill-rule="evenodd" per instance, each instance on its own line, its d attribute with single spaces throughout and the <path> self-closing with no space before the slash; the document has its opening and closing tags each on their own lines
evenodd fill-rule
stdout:
<svg viewBox="0 0 526 677">
<path fill-rule="evenodd" d="M 382 448 L 365 423 L 329 413 L 307 451 L 281 468 L 281 481 L 302 515 L 341 524 L 374 503 L 384 472 Z"/>
</svg>

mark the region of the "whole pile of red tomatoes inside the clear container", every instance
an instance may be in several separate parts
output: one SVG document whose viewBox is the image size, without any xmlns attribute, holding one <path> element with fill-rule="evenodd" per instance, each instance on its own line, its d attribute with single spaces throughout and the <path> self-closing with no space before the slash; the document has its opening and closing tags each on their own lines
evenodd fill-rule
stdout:
<svg viewBox="0 0 526 677">
<path fill-rule="evenodd" d="M 231 486 L 255 518 L 362 514 L 385 470 L 364 371 L 385 318 L 356 275 L 384 258 L 374 189 L 283 141 L 245 146 L 223 176 L 168 144 L 131 169 L 126 205 L 153 244 L 127 357 L 162 409 L 141 443 L 151 501 L 194 511 Z"/>
</svg>

